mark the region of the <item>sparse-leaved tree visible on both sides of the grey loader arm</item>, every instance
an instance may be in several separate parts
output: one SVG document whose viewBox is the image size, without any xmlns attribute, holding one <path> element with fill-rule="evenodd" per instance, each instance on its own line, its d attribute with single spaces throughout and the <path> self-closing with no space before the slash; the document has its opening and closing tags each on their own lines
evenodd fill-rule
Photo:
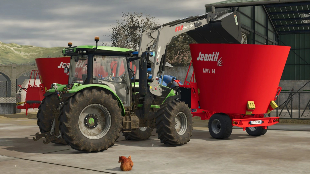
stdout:
<svg viewBox="0 0 310 174">
<path fill-rule="evenodd" d="M 150 15 L 143 13 L 125 13 L 122 12 L 122 22 L 116 22 L 109 31 L 111 42 L 102 42 L 103 46 L 113 46 L 128 48 L 137 51 L 139 49 L 140 36 L 145 30 L 158 26 L 158 22 Z M 107 35 L 104 35 L 107 36 Z M 189 44 L 196 43 L 186 33 L 180 34 L 172 38 L 168 45 L 167 62 L 173 66 L 188 66 L 191 61 Z M 151 50 L 156 50 L 156 40 L 151 46 Z"/>
</svg>

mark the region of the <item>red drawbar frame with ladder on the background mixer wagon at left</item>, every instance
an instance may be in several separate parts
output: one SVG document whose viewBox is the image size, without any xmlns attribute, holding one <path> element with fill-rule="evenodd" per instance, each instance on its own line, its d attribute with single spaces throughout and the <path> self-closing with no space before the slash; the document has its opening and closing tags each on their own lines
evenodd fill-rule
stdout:
<svg viewBox="0 0 310 174">
<path fill-rule="evenodd" d="M 34 78 L 33 85 L 30 84 L 32 74 L 33 74 L 33 78 Z M 39 77 L 39 79 L 37 79 L 37 77 Z M 36 85 L 36 80 L 40 80 L 39 86 Z M 32 70 L 31 71 L 30 79 L 29 79 L 29 83 L 28 83 L 27 88 L 22 88 L 21 85 L 18 85 L 18 86 L 21 88 L 20 90 L 26 91 L 26 98 L 25 98 L 24 102 L 17 102 L 16 103 L 17 108 L 18 109 L 26 109 L 26 115 L 28 115 L 28 109 L 38 108 L 40 103 L 42 102 L 42 100 L 44 98 L 43 95 L 45 94 L 44 85 L 42 84 L 41 77 L 40 77 L 38 70 Z M 20 105 L 20 104 L 24 104 L 24 105 Z"/>
</svg>

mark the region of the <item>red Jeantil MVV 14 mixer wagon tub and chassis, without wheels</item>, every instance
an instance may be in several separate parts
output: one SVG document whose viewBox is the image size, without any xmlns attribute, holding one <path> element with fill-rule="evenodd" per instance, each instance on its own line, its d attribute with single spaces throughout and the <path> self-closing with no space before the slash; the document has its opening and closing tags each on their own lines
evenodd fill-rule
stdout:
<svg viewBox="0 0 310 174">
<path fill-rule="evenodd" d="M 193 117 L 208 120 L 215 113 L 225 113 L 234 122 L 233 126 L 243 130 L 256 126 L 267 128 L 279 122 L 279 117 L 264 118 L 263 113 L 272 110 L 270 102 L 281 92 L 278 84 L 290 47 L 191 44 L 190 48 L 192 61 L 180 87 L 191 89 Z M 192 62 L 194 71 L 187 81 Z M 245 115 L 247 101 L 255 102 L 253 115 Z M 263 123 L 250 125 L 249 121 L 254 120 Z"/>
</svg>

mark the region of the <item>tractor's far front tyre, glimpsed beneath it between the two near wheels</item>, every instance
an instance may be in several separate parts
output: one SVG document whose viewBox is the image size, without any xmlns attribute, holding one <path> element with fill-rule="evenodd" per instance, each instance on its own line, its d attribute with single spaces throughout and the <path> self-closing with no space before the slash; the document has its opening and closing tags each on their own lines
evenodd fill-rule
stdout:
<svg viewBox="0 0 310 174">
<path fill-rule="evenodd" d="M 146 140 L 152 136 L 153 128 L 141 127 L 132 130 L 131 132 L 123 133 L 126 140 Z"/>
</svg>

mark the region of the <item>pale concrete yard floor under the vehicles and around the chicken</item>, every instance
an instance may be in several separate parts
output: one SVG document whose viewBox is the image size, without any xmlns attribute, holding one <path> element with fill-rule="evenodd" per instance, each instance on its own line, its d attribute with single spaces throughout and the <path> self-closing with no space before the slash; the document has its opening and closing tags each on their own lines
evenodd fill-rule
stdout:
<svg viewBox="0 0 310 174">
<path fill-rule="evenodd" d="M 134 166 L 127 173 L 310 173 L 310 124 L 289 125 L 308 131 L 268 130 L 261 137 L 233 129 L 228 139 L 218 140 L 210 136 L 207 121 L 195 118 L 191 141 L 183 146 L 163 145 L 153 131 L 148 140 L 120 137 L 104 152 L 84 153 L 33 141 L 39 132 L 33 116 L 0 116 L 1 174 L 123 173 L 118 157 L 129 155 Z"/>
</svg>

